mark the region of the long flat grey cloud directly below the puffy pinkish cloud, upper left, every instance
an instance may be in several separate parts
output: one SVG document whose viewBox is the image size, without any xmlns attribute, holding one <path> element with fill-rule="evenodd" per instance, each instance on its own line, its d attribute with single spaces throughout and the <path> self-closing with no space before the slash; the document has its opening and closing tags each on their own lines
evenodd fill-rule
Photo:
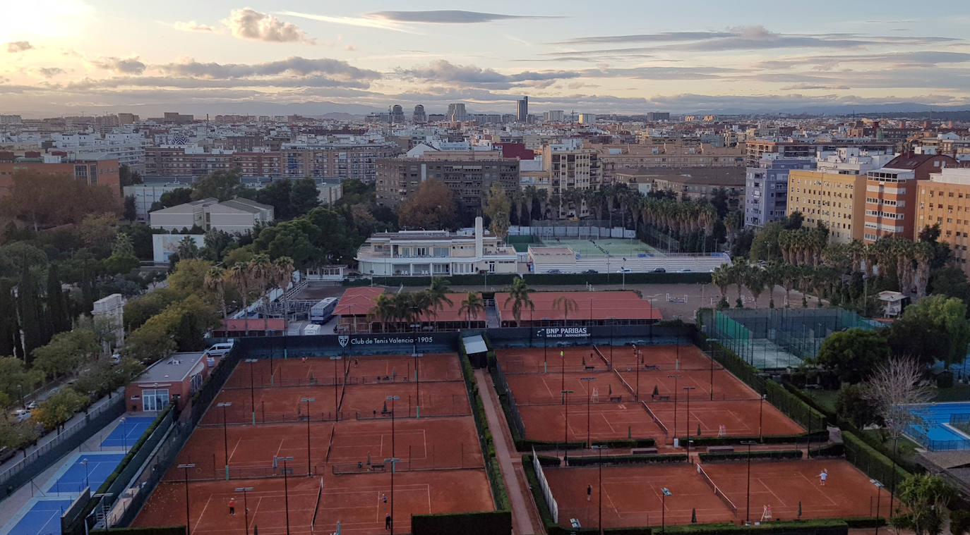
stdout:
<svg viewBox="0 0 970 535">
<path fill-rule="evenodd" d="M 373 80 L 381 74 L 369 69 L 359 69 L 346 61 L 330 58 L 308 59 L 294 56 L 265 63 L 199 63 L 188 60 L 182 63 L 157 65 L 163 73 L 201 79 L 245 79 L 278 75 L 308 76 L 325 75 L 331 79 Z"/>
</svg>

